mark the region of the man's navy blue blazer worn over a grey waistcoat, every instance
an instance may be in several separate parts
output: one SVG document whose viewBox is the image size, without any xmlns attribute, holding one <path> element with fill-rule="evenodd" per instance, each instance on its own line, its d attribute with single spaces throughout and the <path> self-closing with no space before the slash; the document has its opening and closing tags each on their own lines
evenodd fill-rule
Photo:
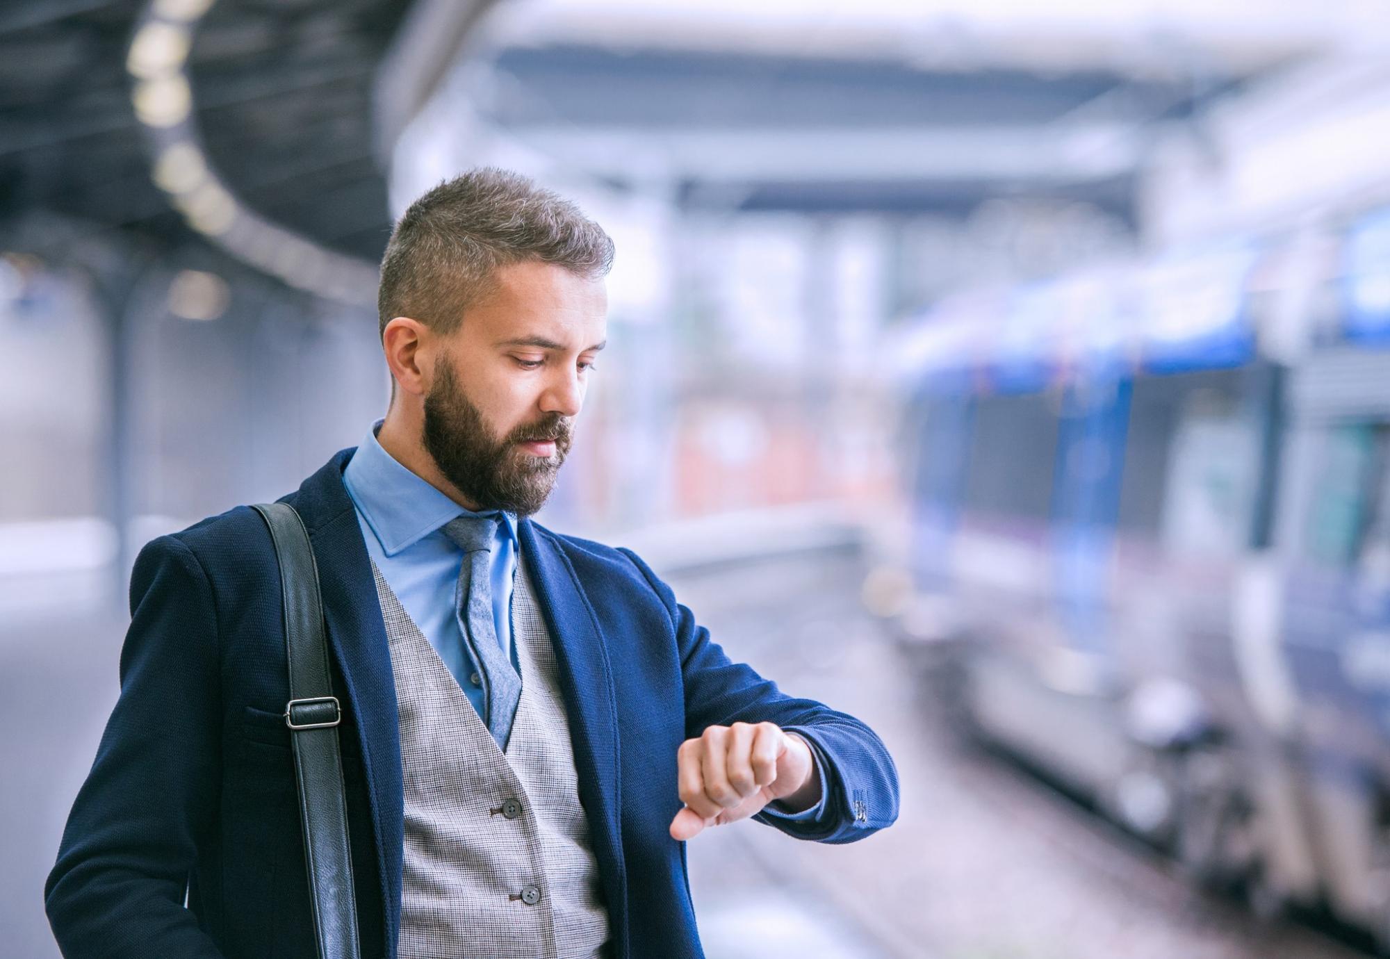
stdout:
<svg viewBox="0 0 1390 959">
<path fill-rule="evenodd" d="M 339 727 L 361 955 L 393 959 L 403 789 L 396 695 L 345 449 L 282 498 L 318 563 L 343 700 Z M 898 777 L 859 720 L 784 695 L 733 663 L 634 553 L 518 524 L 556 644 L 612 930 L 610 955 L 699 956 L 676 751 L 712 724 L 810 730 L 830 759 L 815 821 L 784 833 L 853 842 L 898 814 Z M 306 959 L 309 883 L 281 719 L 288 695 L 279 570 L 254 510 L 238 506 L 147 543 L 131 578 L 121 695 L 44 885 L 68 959 Z M 185 891 L 188 894 L 185 908 Z"/>
</svg>

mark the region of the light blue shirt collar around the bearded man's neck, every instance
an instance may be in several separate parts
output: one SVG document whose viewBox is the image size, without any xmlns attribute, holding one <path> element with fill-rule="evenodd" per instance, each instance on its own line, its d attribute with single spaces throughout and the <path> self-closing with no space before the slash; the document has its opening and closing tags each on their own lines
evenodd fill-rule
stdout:
<svg viewBox="0 0 1390 959">
<path fill-rule="evenodd" d="M 348 468 L 343 470 L 343 484 L 367 525 L 377 535 L 382 552 L 395 556 L 402 549 L 418 542 L 449 520 L 466 510 L 425 480 L 402 466 L 377 442 L 377 431 L 385 420 L 377 420 L 359 443 Z M 502 513 L 506 530 L 516 542 L 516 514 L 505 510 L 484 510 L 480 516 Z"/>
</svg>

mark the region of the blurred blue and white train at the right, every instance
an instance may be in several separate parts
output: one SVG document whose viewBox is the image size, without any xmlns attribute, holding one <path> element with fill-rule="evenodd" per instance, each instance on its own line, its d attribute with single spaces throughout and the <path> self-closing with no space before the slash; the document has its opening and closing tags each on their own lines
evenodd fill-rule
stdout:
<svg viewBox="0 0 1390 959">
<path fill-rule="evenodd" d="M 1390 949 L 1390 213 L 940 303 L 909 653 L 1200 881 Z"/>
</svg>

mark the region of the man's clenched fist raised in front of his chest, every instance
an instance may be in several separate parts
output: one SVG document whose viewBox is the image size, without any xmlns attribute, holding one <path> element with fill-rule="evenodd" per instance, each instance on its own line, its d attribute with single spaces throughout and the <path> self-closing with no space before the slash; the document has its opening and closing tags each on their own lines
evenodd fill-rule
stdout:
<svg viewBox="0 0 1390 959">
<path fill-rule="evenodd" d="M 689 839 L 706 826 L 735 823 L 781 799 L 788 812 L 820 802 L 810 746 L 774 723 L 710 726 L 676 753 L 685 808 L 671 820 L 671 838 Z"/>
</svg>

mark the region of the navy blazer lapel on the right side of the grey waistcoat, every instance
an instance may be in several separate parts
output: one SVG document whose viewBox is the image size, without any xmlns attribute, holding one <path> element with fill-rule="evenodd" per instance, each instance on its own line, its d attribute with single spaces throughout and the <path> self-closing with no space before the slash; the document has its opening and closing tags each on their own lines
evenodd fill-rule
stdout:
<svg viewBox="0 0 1390 959">
<path fill-rule="evenodd" d="M 617 706 L 607 646 L 574 567 L 555 536 L 531 520 L 521 518 L 517 538 L 521 562 L 531 573 L 541 613 L 555 642 L 574 764 L 580 774 L 580 801 L 589 820 L 594 855 L 603 877 L 616 955 L 626 956 L 627 870 L 623 866 L 619 816 Z"/>
</svg>

